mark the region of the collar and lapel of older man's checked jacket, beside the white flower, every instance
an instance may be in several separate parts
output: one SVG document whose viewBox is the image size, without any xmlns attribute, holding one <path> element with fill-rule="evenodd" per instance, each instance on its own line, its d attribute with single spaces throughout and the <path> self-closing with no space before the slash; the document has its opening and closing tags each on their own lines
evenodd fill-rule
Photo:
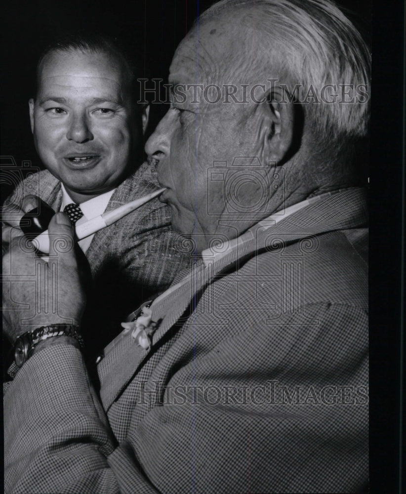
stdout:
<svg viewBox="0 0 406 494">
<path fill-rule="evenodd" d="M 193 302 L 193 297 L 205 288 L 216 274 L 234 266 L 238 268 L 240 260 L 247 256 L 252 257 L 258 251 L 280 249 L 281 244 L 297 242 L 334 230 L 359 228 L 366 223 L 363 189 L 348 189 L 331 196 L 321 196 L 320 200 L 276 224 L 272 220 L 260 222 L 254 229 L 236 239 L 235 247 L 228 249 L 220 259 L 216 259 L 215 264 L 209 260 L 199 261 L 192 267 L 188 276 L 154 300 L 151 306 L 152 320 L 161 322 L 153 335 L 150 351 L 154 351 L 157 343 Z M 119 335 L 117 344 L 108 348 L 98 369 L 102 384 L 101 397 L 106 409 L 148 355 L 148 351 L 134 343 L 129 333 Z"/>
</svg>

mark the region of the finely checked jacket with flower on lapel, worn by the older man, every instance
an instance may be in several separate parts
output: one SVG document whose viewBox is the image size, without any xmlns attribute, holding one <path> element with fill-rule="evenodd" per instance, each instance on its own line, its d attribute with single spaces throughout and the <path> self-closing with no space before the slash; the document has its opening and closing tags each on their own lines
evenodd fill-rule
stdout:
<svg viewBox="0 0 406 494">
<path fill-rule="evenodd" d="M 365 192 L 210 252 L 151 306 L 152 347 L 43 349 L 4 399 L 5 492 L 355 493 L 367 480 Z"/>
</svg>

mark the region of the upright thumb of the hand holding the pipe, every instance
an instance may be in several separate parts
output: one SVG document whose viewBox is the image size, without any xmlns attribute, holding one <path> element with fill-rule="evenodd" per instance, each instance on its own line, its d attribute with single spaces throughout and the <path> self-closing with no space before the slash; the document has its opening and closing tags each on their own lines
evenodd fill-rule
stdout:
<svg viewBox="0 0 406 494">
<path fill-rule="evenodd" d="M 76 266 L 74 229 L 68 215 L 56 213 L 49 225 L 49 256 L 57 256 L 68 266 Z"/>
</svg>

